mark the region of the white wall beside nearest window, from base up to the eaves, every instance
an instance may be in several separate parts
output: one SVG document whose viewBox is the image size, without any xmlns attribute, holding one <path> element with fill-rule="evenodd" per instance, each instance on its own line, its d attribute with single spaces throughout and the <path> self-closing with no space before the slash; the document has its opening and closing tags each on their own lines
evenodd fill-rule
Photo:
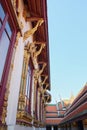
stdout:
<svg viewBox="0 0 87 130">
<path fill-rule="evenodd" d="M 6 117 L 6 124 L 9 126 L 8 130 L 13 130 L 14 125 L 16 124 L 17 105 L 18 105 L 22 65 L 23 65 L 23 57 L 24 57 L 24 45 L 27 44 L 27 42 L 30 42 L 30 43 L 33 42 L 32 36 L 30 36 L 27 39 L 27 41 L 23 41 L 24 32 L 31 29 L 32 26 L 31 26 L 31 23 L 25 22 L 24 20 L 24 17 L 23 17 L 24 5 L 23 5 L 22 0 L 20 1 L 19 5 L 20 5 L 19 11 L 21 9 L 20 21 L 23 24 L 23 29 L 21 30 L 22 36 L 19 38 L 18 45 L 15 52 L 13 71 L 11 74 L 11 80 L 10 80 L 10 86 L 9 86 L 7 117 Z M 24 128 L 25 127 L 22 127 L 20 129 L 22 130 Z"/>
</svg>

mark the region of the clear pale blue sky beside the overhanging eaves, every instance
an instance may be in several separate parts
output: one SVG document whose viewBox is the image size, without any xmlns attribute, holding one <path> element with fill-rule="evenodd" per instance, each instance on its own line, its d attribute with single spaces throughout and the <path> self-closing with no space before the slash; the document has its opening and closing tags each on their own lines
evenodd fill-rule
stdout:
<svg viewBox="0 0 87 130">
<path fill-rule="evenodd" d="M 47 0 L 52 103 L 87 82 L 87 0 Z M 59 96 L 60 95 L 60 96 Z"/>
</svg>

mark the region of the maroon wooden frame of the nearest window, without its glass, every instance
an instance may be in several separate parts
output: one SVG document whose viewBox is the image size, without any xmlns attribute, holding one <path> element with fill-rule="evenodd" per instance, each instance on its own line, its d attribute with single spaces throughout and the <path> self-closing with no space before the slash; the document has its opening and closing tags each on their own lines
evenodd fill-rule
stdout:
<svg viewBox="0 0 87 130">
<path fill-rule="evenodd" d="M 15 23 L 16 20 L 14 20 L 15 19 L 14 14 L 13 14 L 14 12 L 11 12 L 10 10 L 11 4 L 9 2 L 10 2 L 9 0 L 4 0 L 4 1 L 0 0 L 0 4 L 5 12 L 5 18 L 2 21 L 1 30 L 0 30 L 0 39 L 2 37 L 3 31 L 5 30 L 6 22 L 9 23 L 11 27 L 11 31 L 12 31 L 12 36 L 10 39 L 10 43 L 9 43 L 9 47 L 8 47 L 8 51 L 6 55 L 6 60 L 3 67 L 3 73 L 2 73 L 2 77 L 0 81 L 0 123 L 2 123 L 1 116 L 2 116 L 2 111 L 3 111 L 4 96 L 6 92 L 6 83 L 8 79 L 12 53 L 13 53 L 13 48 L 15 44 L 16 34 L 17 34 L 17 27 Z"/>
</svg>

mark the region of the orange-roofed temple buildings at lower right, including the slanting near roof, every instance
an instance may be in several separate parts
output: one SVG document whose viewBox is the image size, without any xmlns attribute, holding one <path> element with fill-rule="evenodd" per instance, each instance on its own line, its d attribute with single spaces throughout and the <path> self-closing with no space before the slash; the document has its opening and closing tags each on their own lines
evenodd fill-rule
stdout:
<svg viewBox="0 0 87 130">
<path fill-rule="evenodd" d="M 74 98 L 46 107 L 47 130 L 87 130 L 87 83 Z"/>
</svg>

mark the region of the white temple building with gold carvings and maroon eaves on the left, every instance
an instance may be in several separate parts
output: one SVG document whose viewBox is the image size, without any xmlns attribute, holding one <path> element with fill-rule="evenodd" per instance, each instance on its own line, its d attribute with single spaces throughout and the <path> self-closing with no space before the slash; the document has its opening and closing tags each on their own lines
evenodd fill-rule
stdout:
<svg viewBox="0 0 87 130">
<path fill-rule="evenodd" d="M 0 130 L 45 129 L 50 95 L 46 0 L 0 0 Z"/>
</svg>

